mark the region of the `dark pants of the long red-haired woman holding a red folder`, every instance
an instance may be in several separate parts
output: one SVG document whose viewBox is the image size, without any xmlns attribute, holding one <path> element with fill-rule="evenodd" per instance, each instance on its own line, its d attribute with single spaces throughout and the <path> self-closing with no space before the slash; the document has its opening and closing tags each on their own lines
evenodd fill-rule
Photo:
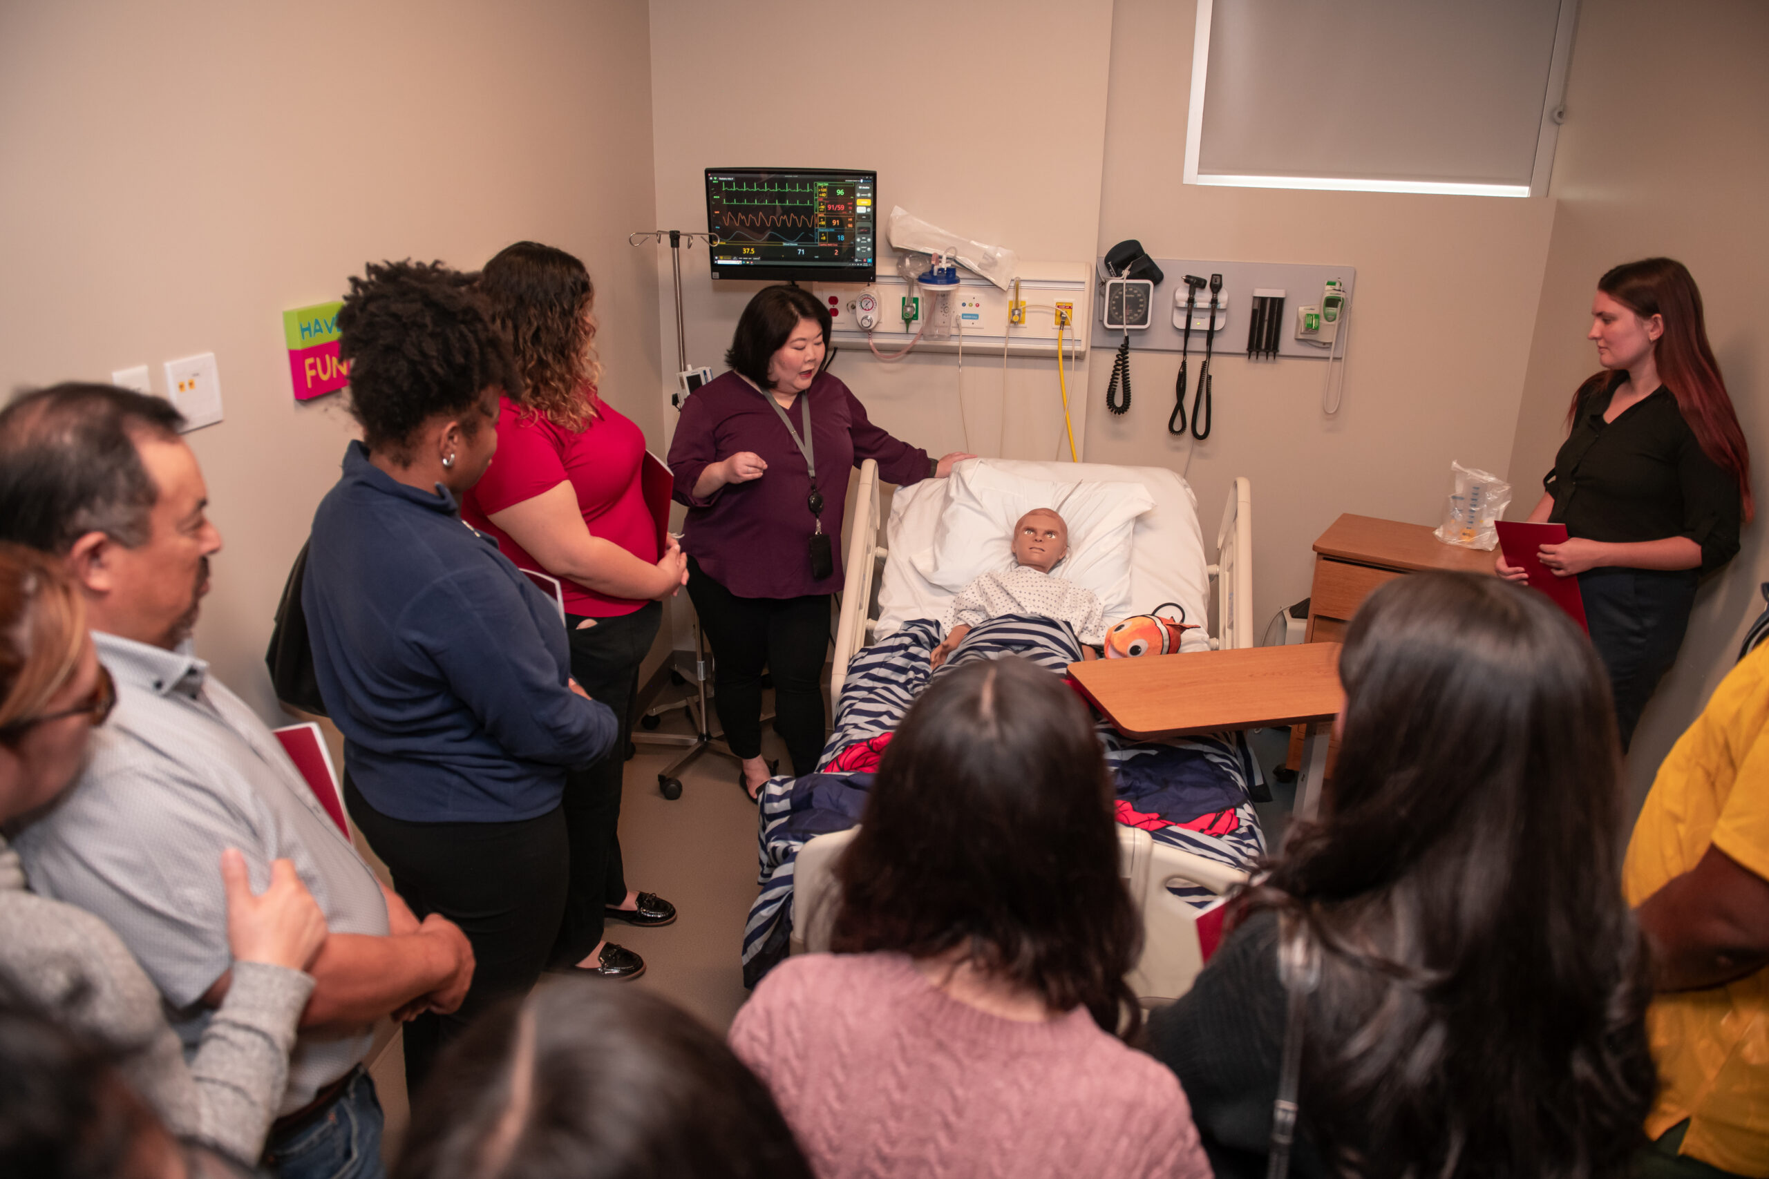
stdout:
<svg viewBox="0 0 1769 1179">
<path fill-rule="evenodd" d="M 1622 751 L 1659 679 L 1677 661 L 1695 605 L 1695 569 L 1603 567 L 1578 574 L 1590 645 L 1610 672 Z"/>
</svg>

